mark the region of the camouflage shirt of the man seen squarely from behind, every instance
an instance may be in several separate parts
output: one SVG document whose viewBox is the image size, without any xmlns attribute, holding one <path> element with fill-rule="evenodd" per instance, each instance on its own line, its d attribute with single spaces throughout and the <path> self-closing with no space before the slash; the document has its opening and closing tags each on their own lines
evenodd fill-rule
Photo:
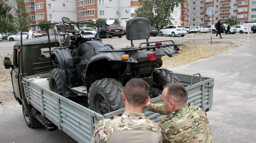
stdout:
<svg viewBox="0 0 256 143">
<path fill-rule="evenodd" d="M 144 114 L 124 112 L 116 119 L 100 120 L 91 143 L 98 142 L 163 142 L 161 128 Z"/>
</svg>

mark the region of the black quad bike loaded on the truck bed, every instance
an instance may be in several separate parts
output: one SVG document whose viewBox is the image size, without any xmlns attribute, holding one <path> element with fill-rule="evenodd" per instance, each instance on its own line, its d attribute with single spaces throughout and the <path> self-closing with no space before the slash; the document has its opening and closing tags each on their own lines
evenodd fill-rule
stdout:
<svg viewBox="0 0 256 143">
<path fill-rule="evenodd" d="M 68 18 L 62 19 L 70 24 Z M 106 25 L 113 23 L 109 20 Z M 100 114 L 124 107 L 121 93 L 131 78 L 144 79 L 150 85 L 150 95 L 158 96 L 165 84 L 180 82 L 172 71 L 158 68 L 162 66 L 162 56 L 178 55 L 182 50 L 178 45 L 182 44 L 174 44 L 172 40 L 148 42 L 149 26 L 145 18 L 128 20 L 126 39 L 131 40 L 131 46 L 122 49 L 102 43 L 100 34 L 111 33 L 107 29 L 99 29 L 95 35 L 67 31 L 73 34 L 66 38 L 66 42 L 70 39 L 70 46 L 51 53 L 51 61 L 57 68 L 50 72 L 50 88 L 64 97 L 88 96 L 90 109 Z M 146 42 L 135 47 L 133 40 L 139 39 Z"/>
</svg>

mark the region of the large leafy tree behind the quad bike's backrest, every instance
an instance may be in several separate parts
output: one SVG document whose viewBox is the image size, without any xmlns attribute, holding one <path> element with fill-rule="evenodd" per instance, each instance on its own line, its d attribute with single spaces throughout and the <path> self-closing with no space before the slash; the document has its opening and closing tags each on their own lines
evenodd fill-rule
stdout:
<svg viewBox="0 0 256 143">
<path fill-rule="evenodd" d="M 166 26 L 172 24 L 171 13 L 173 13 L 174 8 L 183 2 L 184 0 L 140 0 L 142 6 L 135 10 L 136 17 L 147 18 L 150 25 L 156 28 Z"/>
</svg>

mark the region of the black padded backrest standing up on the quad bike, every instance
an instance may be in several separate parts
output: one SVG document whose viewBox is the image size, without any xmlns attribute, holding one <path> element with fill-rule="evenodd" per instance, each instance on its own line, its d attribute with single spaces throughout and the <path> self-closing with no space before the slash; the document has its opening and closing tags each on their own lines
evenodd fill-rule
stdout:
<svg viewBox="0 0 256 143">
<path fill-rule="evenodd" d="M 143 17 L 129 19 L 126 22 L 126 39 L 149 39 L 149 20 Z"/>
</svg>

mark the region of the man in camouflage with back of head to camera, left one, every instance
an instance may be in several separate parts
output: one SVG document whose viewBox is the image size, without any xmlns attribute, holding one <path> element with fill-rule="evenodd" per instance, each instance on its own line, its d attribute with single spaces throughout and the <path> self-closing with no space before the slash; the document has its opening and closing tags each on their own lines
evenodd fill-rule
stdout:
<svg viewBox="0 0 256 143">
<path fill-rule="evenodd" d="M 149 120 L 142 109 L 149 101 L 149 85 L 142 79 L 129 80 L 122 92 L 125 112 L 120 117 L 100 120 L 91 143 L 98 142 L 162 142 L 163 133 L 158 124 Z"/>
</svg>

